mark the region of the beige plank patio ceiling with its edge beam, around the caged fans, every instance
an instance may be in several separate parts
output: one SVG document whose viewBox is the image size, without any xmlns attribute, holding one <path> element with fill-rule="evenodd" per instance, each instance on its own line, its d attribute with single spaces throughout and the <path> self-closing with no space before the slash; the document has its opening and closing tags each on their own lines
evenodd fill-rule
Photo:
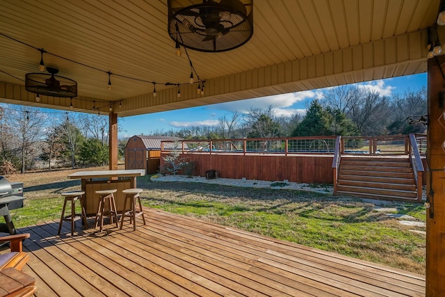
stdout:
<svg viewBox="0 0 445 297">
<path fill-rule="evenodd" d="M 70 99 L 35 102 L 24 90 L 25 74 L 38 72 L 40 51 L 21 42 L 159 83 L 153 97 L 151 83 L 112 75 L 108 90 L 108 74 L 44 54 L 45 65 L 77 81 L 75 110 L 96 112 L 95 101 L 108 112 L 112 102 L 119 116 L 426 72 L 426 29 L 438 6 L 439 0 L 254 0 L 252 39 L 223 53 L 188 50 L 206 89 L 198 95 L 196 83 L 181 86 L 177 97 L 177 88 L 163 83 L 184 83 L 191 69 L 184 50 L 175 56 L 167 0 L 1 0 L 0 102 L 69 110 Z"/>
</svg>

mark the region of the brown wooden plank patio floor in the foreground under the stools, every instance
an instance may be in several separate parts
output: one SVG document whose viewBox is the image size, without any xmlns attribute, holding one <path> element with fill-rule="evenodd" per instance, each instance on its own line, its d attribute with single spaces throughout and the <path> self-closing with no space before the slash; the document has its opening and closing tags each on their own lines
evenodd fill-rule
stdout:
<svg viewBox="0 0 445 297">
<path fill-rule="evenodd" d="M 425 296 L 422 275 L 145 208 L 147 225 L 23 228 L 36 296 Z M 89 221 L 92 223 L 92 220 Z M 139 223 L 139 220 L 138 220 Z M 68 223 L 65 227 L 68 227 Z"/>
</svg>

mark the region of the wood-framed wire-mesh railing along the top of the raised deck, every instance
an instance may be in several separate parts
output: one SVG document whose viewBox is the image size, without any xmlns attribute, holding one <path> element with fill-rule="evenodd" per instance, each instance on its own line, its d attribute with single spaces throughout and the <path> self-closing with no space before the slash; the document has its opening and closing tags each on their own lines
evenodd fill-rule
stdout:
<svg viewBox="0 0 445 297">
<path fill-rule="evenodd" d="M 426 152 L 426 136 L 413 134 L 419 154 Z M 241 138 L 163 141 L 161 152 L 179 150 L 182 154 L 334 154 L 338 136 L 308 136 L 290 138 Z M 341 154 L 409 154 L 410 137 L 343 136 Z"/>
</svg>

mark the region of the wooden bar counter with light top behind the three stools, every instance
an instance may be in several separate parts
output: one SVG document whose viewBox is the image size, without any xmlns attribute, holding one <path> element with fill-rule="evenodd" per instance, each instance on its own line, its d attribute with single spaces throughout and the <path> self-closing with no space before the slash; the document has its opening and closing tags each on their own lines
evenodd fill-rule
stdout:
<svg viewBox="0 0 445 297">
<path fill-rule="evenodd" d="M 118 190 L 115 194 L 116 208 L 122 212 L 125 195 L 122 190 L 126 188 L 136 188 L 136 177 L 145 175 L 144 169 L 135 170 L 100 170 L 100 171 L 79 171 L 68 175 L 69 179 L 81 179 L 82 191 L 85 191 L 83 201 L 87 216 L 95 216 L 97 205 L 99 204 L 98 190 Z"/>
</svg>

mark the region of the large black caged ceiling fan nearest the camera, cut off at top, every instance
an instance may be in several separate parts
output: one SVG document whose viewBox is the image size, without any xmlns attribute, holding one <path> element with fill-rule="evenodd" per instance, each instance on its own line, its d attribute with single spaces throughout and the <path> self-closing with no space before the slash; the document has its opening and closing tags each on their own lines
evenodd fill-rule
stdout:
<svg viewBox="0 0 445 297">
<path fill-rule="evenodd" d="M 220 52 L 253 35 L 253 0 L 168 0 L 168 33 L 179 45 Z"/>
</svg>

